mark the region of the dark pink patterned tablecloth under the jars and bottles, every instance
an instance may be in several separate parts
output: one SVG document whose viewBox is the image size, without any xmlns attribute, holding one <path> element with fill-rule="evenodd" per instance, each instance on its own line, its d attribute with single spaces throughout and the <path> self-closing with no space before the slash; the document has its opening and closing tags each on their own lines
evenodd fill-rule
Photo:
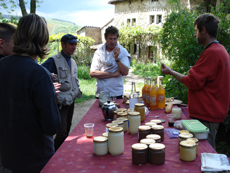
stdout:
<svg viewBox="0 0 230 173">
<path fill-rule="evenodd" d="M 121 102 L 117 100 L 116 102 Z M 122 107 L 125 105 L 121 104 Z M 165 119 L 163 126 L 168 127 L 166 114 L 164 110 L 150 111 L 146 116 L 145 122 L 149 122 L 158 115 L 160 119 Z M 182 119 L 186 116 L 182 113 Z M 95 136 L 101 136 L 104 133 L 105 125 L 101 108 L 98 107 L 98 100 L 92 105 L 80 123 L 75 127 L 63 145 L 58 149 L 54 156 L 41 171 L 42 173 L 75 173 L 75 172 L 201 172 L 200 154 L 203 152 L 215 153 L 215 150 L 206 140 L 199 141 L 199 154 L 193 162 L 184 162 L 180 160 L 178 139 L 170 139 L 165 133 L 163 144 L 166 145 L 166 159 L 163 165 L 133 165 L 131 145 L 138 142 L 138 135 L 131 135 L 128 132 L 124 134 L 125 150 L 122 155 L 112 156 L 109 153 L 105 156 L 96 156 L 93 152 L 93 139 L 85 137 L 84 123 L 95 123 Z M 143 124 L 143 123 L 142 123 Z"/>
</svg>

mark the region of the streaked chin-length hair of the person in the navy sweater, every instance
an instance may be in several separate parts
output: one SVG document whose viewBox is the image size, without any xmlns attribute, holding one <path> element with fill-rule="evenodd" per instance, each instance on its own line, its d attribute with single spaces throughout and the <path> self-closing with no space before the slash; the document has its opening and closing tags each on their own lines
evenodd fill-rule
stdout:
<svg viewBox="0 0 230 173">
<path fill-rule="evenodd" d="M 28 14 L 19 20 L 14 34 L 13 52 L 39 56 L 43 59 L 48 54 L 46 47 L 48 41 L 49 32 L 46 21 L 36 14 Z"/>
</svg>

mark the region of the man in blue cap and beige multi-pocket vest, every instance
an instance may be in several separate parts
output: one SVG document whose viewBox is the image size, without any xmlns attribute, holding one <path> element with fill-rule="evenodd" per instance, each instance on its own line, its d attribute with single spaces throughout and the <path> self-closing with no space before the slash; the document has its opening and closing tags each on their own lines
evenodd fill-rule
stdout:
<svg viewBox="0 0 230 173">
<path fill-rule="evenodd" d="M 55 150 L 61 146 L 69 134 L 74 112 L 74 101 L 82 95 L 77 77 L 77 65 L 71 58 L 76 50 L 77 42 L 79 41 L 76 36 L 64 35 L 61 38 L 62 51 L 42 64 L 43 67 L 54 74 L 55 81 L 61 84 L 60 93 L 57 93 L 61 126 L 54 139 Z"/>
</svg>

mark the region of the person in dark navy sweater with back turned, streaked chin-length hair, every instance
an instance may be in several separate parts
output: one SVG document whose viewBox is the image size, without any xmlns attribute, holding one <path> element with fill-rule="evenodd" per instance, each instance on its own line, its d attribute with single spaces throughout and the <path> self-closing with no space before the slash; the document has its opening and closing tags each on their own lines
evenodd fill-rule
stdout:
<svg viewBox="0 0 230 173">
<path fill-rule="evenodd" d="M 60 127 L 52 75 L 35 61 L 47 55 L 49 32 L 36 14 L 19 20 L 14 55 L 0 59 L 0 151 L 4 168 L 40 172 L 54 154 Z"/>
</svg>

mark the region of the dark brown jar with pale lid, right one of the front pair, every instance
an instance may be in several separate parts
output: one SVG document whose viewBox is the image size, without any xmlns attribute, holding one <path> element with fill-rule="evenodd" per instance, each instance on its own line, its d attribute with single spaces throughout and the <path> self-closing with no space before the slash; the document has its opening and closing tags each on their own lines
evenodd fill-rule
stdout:
<svg viewBox="0 0 230 173">
<path fill-rule="evenodd" d="M 165 145 L 151 144 L 149 146 L 149 162 L 154 165 L 162 165 L 165 162 Z"/>
</svg>

